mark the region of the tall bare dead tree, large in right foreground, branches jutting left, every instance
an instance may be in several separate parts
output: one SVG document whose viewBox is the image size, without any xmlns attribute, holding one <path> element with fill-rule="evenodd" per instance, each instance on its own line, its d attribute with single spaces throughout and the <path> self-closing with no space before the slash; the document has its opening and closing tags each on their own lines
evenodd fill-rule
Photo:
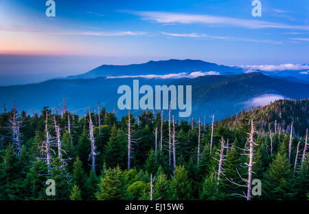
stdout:
<svg viewBox="0 0 309 214">
<path fill-rule="evenodd" d="M 253 141 L 253 134 L 254 133 L 255 133 L 255 128 L 253 126 L 253 120 L 251 120 L 251 131 L 250 131 L 250 133 L 248 133 L 249 134 L 249 138 L 247 139 L 247 143 L 244 146 L 244 149 L 242 149 L 244 151 L 244 154 L 242 154 L 242 155 L 249 157 L 249 163 L 244 163 L 248 167 L 248 179 L 246 180 L 246 179 L 242 178 L 242 176 L 238 172 L 238 169 L 236 168 L 236 171 L 237 171 L 238 175 L 240 176 L 240 179 L 242 181 L 246 182 L 247 185 L 237 184 L 232 179 L 228 179 L 227 178 L 227 180 L 229 180 L 233 184 L 236 184 L 237 186 L 247 187 L 247 195 L 246 195 L 246 193 L 243 193 L 243 195 L 238 194 L 238 193 L 233 193 L 233 195 L 240 195 L 242 197 L 245 197 L 247 200 L 251 200 L 251 198 L 252 198 L 252 196 L 251 196 L 252 174 L 253 174 L 252 168 L 253 168 L 253 164 L 255 164 L 255 162 L 253 162 L 253 155 L 254 155 L 254 153 L 253 153 L 253 146 L 258 146 Z M 248 144 L 249 144 L 249 146 L 248 146 Z M 238 149 L 240 149 L 240 148 L 238 148 Z"/>
</svg>

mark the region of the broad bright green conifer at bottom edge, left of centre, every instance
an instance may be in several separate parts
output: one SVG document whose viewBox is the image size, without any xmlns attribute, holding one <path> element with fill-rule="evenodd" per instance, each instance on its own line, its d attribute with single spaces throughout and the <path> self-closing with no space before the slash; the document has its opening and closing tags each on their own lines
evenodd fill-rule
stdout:
<svg viewBox="0 0 309 214">
<path fill-rule="evenodd" d="M 126 183 L 119 167 L 107 169 L 99 184 L 100 190 L 95 194 L 98 200 L 126 199 Z"/>
</svg>

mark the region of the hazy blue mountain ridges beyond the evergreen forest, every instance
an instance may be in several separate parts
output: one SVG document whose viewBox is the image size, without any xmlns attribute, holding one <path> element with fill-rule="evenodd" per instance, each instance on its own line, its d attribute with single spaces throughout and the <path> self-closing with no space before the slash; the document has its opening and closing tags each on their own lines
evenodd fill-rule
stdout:
<svg viewBox="0 0 309 214">
<path fill-rule="evenodd" d="M 212 114 L 217 119 L 225 118 L 278 98 L 309 97 L 306 78 L 295 81 L 284 76 L 266 76 L 261 72 L 244 73 L 240 67 L 170 60 L 139 65 L 102 65 L 78 76 L 0 87 L 0 102 L 1 105 L 6 103 L 10 109 L 15 99 L 19 110 L 41 111 L 45 106 L 60 107 L 62 94 L 65 94 L 67 108 L 75 114 L 82 115 L 88 107 L 94 109 L 100 103 L 108 111 L 115 108 L 116 115 L 122 116 L 127 112 L 117 109 L 117 100 L 121 96 L 117 94 L 117 88 L 120 85 L 133 88 L 133 79 L 139 79 L 140 86 L 153 88 L 155 85 L 192 85 L 192 117 L 205 115 L 207 119 Z M 173 114 L 178 115 L 174 111 Z M 139 112 L 133 111 L 135 113 Z"/>
</svg>

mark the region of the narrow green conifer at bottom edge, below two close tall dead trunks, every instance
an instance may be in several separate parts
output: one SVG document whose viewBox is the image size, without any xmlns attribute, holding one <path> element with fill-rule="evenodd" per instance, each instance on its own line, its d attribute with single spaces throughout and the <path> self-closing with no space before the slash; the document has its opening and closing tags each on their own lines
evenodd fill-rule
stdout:
<svg viewBox="0 0 309 214">
<path fill-rule="evenodd" d="M 173 200 L 191 199 L 191 181 L 187 178 L 187 171 L 184 166 L 176 167 L 176 173 L 170 182 Z"/>
</svg>

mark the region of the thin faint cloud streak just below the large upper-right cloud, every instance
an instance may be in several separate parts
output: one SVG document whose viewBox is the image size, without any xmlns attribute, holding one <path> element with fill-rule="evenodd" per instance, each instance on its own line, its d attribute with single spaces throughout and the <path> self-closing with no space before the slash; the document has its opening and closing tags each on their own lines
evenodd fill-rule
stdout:
<svg viewBox="0 0 309 214">
<path fill-rule="evenodd" d="M 271 41 L 268 39 L 242 39 L 242 38 L 234 38 L 234 37 L 226 37 L 226 36 L 210 36 L 207 34 L 196 34 L 196 33 L 190 33 L 190 34 L 175 34 L 175 33 L 169 33 L 169 32 L 161 32 L 161 34 L 166 36 L 176 36 L 176 37 L 189 37 L 189 38 L 205 38 L 205 39 L 225 39 L 229 41 L 247 41 L 247 42 L 254 42 L 254 43 L 271 43 L 271 44 L 282 44 L 280 41 Z"/>
</svg>

